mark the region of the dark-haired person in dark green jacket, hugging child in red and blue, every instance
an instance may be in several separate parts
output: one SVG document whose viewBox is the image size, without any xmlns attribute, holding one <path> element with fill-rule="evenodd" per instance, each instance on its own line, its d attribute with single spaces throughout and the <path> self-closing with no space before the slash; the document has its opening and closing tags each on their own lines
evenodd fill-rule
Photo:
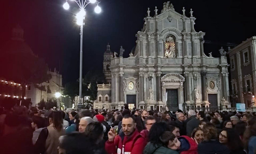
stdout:
<svg viewBox="0 0 256 154">
<path fill-rule="evenodd" d="M 144 154 L 178 154 L 176 150 L 172 150 L 168 148 L 167 139 L 160 138 L 160 136 L 163 135 L 165 131 L 169 131 L 169 127 L 165 122 L 159 122 L 155 123 L 150 131 L 149 131 L 149 142 L 144 148 L 143 153 Z M 166 135 L 163 135 L 163 137 L 166 137 Z M 170 136 L 171 142 L 173 139 L 175 139 L 175 135 Z M 163 141 L 166 141 L 165 143 Z M 176 144 L 176 147 L 179 147 L 178 144 Z"/>
</svg>

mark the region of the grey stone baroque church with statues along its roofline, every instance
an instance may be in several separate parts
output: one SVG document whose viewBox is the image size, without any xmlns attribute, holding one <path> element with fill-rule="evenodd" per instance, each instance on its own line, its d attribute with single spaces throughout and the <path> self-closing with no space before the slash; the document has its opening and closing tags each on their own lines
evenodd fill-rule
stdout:
<svg viewBox="0 0 256 154">
<path fill-rule="evenodd" d="M 110 50 L 104 53 L 103 72 L 111 83 L 108 108 L 144 108 L 171 111 L 184 106 L 193 108 L 230 107 L 228 63 L 204 53 L 204 35 L 194 29 L 196 18 L 175 11 L 165 2 L 154 16 L 148 8 L 142 31 L 136 34 L 136 47 L 129 57 Z M 101 88 L 98 89 L 98 95 Z M 107 89 L 106 89 L 107 90 Z M 96 100 L 99 102 L 99 98 Z M 111 102 L 111 103 L 110 103 Z"/>
</svg>

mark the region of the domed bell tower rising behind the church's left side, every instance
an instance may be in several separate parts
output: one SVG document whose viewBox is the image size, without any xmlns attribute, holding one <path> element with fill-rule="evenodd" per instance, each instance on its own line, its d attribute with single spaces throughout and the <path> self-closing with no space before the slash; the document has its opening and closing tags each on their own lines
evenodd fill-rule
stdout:
<svg viewBox="0 0 256 154">
<path fill-rule="evenodd" d="M 107 50 L 104 52 L 104 59 L 103 59 L 103 73 L 108 83 L 111 82 L 111 71 L 109 67 L 111 66 L 112 58 L 113 58 L 113 54 L 110 51 L 110 45 L 108 44 Z"/>
</svg>

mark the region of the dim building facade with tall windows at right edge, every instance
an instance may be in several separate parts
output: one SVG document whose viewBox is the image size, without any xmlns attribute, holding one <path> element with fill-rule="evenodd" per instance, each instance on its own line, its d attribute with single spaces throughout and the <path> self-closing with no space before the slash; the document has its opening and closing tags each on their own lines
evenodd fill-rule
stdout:
<svg viewBox="0 0 256 154">
<path fill-rule="evenodd" d="M 227 54 L 230 60 L 231 102 L 245 103 L 246 107 L 255 107 L 256 37 L 243 41 Z"/>
</svg>

